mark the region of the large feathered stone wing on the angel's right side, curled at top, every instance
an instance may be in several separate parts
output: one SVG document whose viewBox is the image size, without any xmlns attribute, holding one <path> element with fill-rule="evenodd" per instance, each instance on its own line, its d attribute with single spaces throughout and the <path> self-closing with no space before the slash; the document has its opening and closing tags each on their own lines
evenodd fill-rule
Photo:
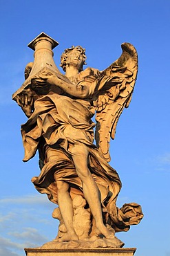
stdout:
<svg viewBox="0 0 170 256">
<path fill-rule="evenodd" d="M 96 145 L 107 162 L 109 142 L 123 109 L 129 107 L 138 73 L 138 55 L 134 46 L 122 44 L 122 55 L 102 72 L 98 82 L 96 107 Z"/>
</svg>

